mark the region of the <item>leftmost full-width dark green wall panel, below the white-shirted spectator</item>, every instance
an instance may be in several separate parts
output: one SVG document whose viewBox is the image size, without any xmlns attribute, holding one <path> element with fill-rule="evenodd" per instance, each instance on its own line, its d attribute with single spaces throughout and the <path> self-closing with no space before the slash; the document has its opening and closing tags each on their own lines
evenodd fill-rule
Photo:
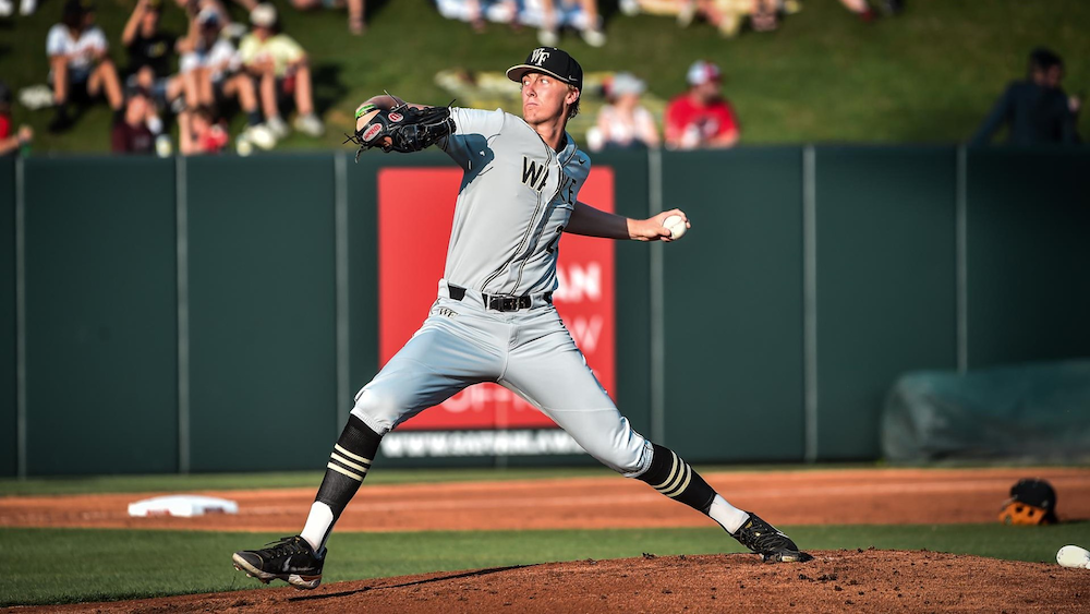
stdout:
<svg viewBox="0 0 1090 614">
<path fill-rule="evenodd" d="M 174 164 L 25 167 L 26 472 L 177 471 Z"/>
</svg>

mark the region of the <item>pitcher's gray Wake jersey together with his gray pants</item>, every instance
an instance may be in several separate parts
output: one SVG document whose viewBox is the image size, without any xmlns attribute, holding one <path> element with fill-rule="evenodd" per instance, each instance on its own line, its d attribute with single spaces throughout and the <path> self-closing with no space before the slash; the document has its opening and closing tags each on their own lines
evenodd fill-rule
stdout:
<svg viewBox="0 0 1090 614">
<path fill-rule="evenodd" d="M 549 293 L 558 243 L 591 161 L 570 135 L 553 151 L 522 119 L 455 108 L 440 146 L 464 170 L 439 296 L 424 325 L 356 395 L 386 434 L 467 386 L 496 382 L 545 412 L 607 467 L 642 473 L 652 447 L 591 373 Z M 489 309 L 488 297 L 521 298 Z"/>
</svg>

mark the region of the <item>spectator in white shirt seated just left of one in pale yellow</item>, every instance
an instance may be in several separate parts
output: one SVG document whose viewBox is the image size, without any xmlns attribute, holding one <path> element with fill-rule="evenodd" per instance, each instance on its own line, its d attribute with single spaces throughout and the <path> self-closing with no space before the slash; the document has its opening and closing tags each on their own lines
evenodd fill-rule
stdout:
<svg viewBox="0 0 1090 614">
<path fill-rule="evenodd" d="M 250 124 L 246 132 L 254 144 L 266 149 L 272 147 L 276 139 L 271 130 L 262 125 L 254 82 L 242 72 L 239 52 L 230 40 L 220 37 L 221 29 L 219 13 L 202 9 L 190 21 L 189 35 L 178 44 L 182 52 L 185 104 L 191 108 L 216 109 L 220 101 L 235 98 L 246 113 Z"/>
</svg>

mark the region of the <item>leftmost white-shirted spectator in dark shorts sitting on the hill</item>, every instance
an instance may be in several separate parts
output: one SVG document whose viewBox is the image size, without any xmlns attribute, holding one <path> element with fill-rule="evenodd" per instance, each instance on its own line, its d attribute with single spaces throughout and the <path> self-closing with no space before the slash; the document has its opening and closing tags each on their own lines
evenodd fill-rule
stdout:
<svg viewBox="0 0 1090 614">
<path fill-rule="evenodd" d="M 49 28 L 46 55 L 49 56 L 49 81 L 53 87 L 57 115 L 49 124 L 52 132 L 72 125 L 70 101 L 90 101 L 105 91 L 113 111 L 120 112 L 124 98 L 118 71 L 106 55 L 106 35 L 95 25 L 95 7 L 89 0 L 68 0 L 61 23 Z"/>
</svg>

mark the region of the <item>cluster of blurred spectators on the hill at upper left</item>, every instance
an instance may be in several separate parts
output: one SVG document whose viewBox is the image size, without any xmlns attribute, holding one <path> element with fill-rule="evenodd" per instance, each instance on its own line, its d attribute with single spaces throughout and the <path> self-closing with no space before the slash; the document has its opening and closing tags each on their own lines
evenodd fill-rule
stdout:
<svg viewBox="0 0 1090 614">
<path fill-rule="evenodd" d="M 179 36 L 160 26 L 164 0 L 138 0 L 118 40 L 126 58 L 118 67 L 110 39 L 95 23 L 93 0 L 66 0 L 46 37 L 49 131 L 69 130 L 78 110 L 105 100 L 113 113 L 116 153 L 169 155 L 175 147 L 170 122 L 177 122 L 178 152 L 221 152 L 231 144 L 228 120 L 235 112 L 246 118 L 234 136 L 242 154 L 275 147 L 292 129 L 320 136 L 325 127 L 314 110 L 305 50 L 281 32 L 272 4 L 237 1 L 249 11 L 249 24 L 232 22 L 220 0 L 177 0 L 187 19 Z M 351 27 L 360 25 L 351 21 Z M 10 93 L 4 104 L 10 106 Z M 33 139 L 28 129 L 17 132 L 20 145 Z"/>
</svg>

